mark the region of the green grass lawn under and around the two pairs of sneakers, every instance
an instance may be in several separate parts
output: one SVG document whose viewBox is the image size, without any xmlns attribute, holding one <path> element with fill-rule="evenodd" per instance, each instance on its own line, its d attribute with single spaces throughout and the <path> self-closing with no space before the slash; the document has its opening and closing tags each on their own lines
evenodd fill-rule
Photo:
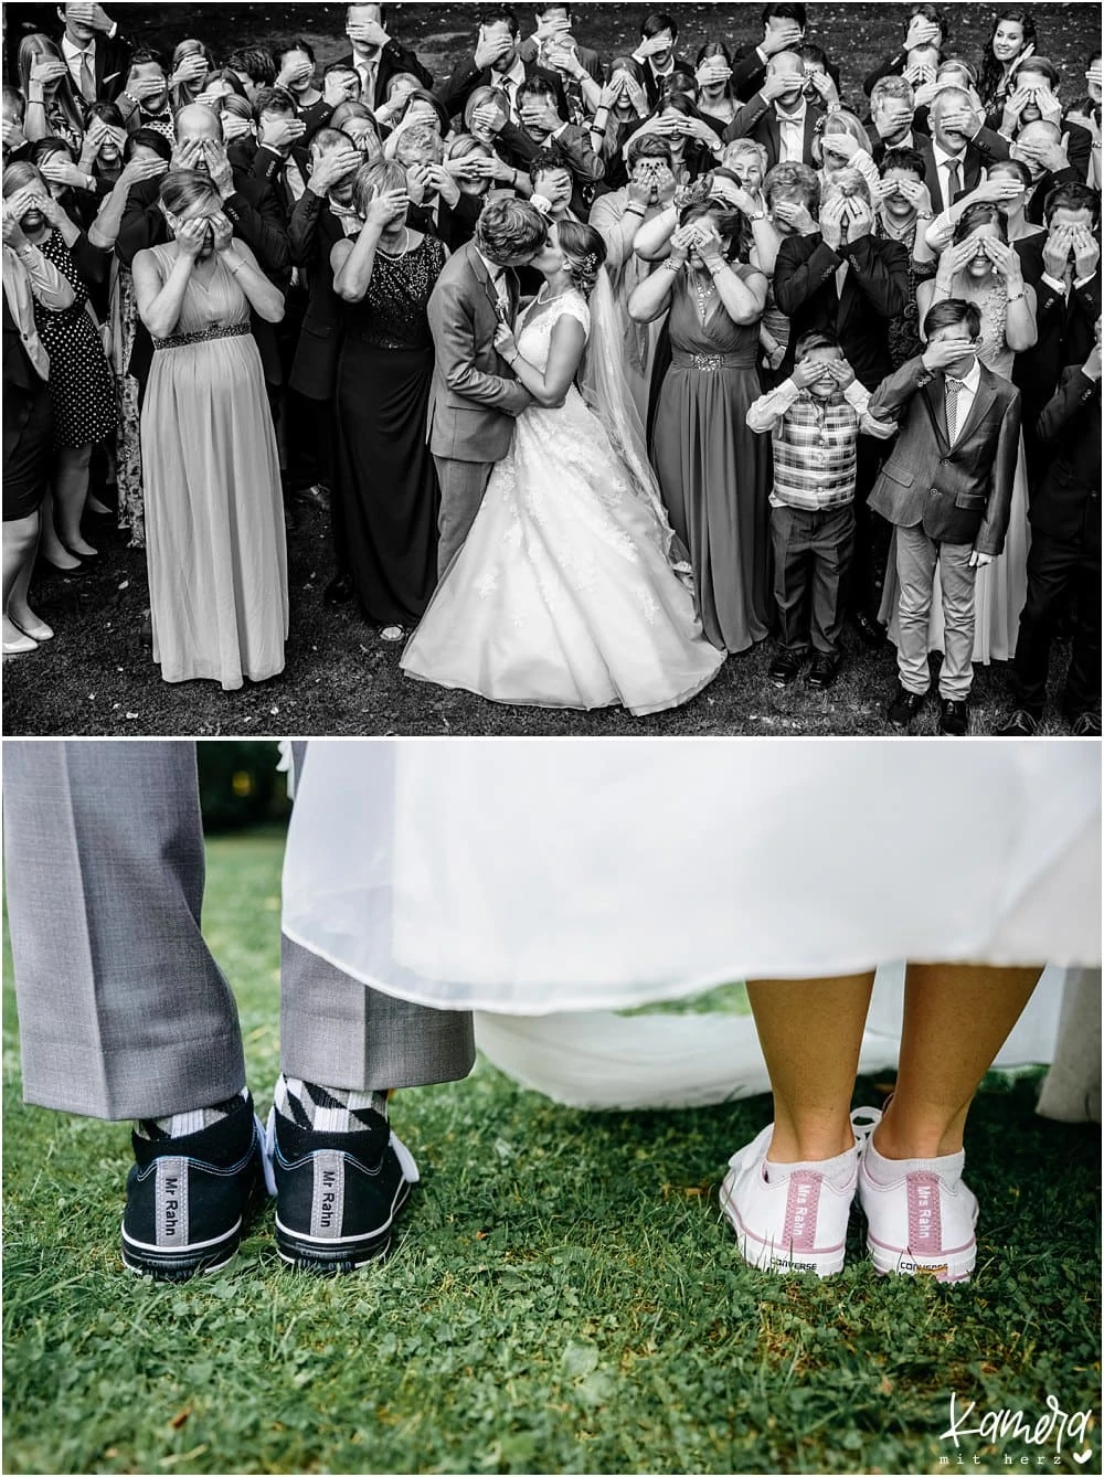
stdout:
<svg viewBox="0 0 1104 1477">
<path fill-rule="evenodd" d="M 208 851 L 205 932 L 266 1108 L 281 837 Z M 971 1120 L 968 1286 L 879 1281 L 857 1227 L 825 1284 L 743 1267 L 717 1185 L 766 1097 L 588 1115 L 486 1063 L 396 1096 L 423 1188 L 386 1263 L 291 1275 L 269 1210 L 228 1273 L 154 1286 L 117 1260 L 124 1125 L 19 1105 L 6 964 L 6 1471 L 937 1473 L 952 1390 L 974 1425 L 1097 1405 L 1100 1134 L 1036 1118 L 1033 1078 L 986 1084 Z M 962 1442 L 978 1471 L 1039 1455 Z M 1100 1470 L 1071 1445 L 1061 1468 Z"/>
</svg>

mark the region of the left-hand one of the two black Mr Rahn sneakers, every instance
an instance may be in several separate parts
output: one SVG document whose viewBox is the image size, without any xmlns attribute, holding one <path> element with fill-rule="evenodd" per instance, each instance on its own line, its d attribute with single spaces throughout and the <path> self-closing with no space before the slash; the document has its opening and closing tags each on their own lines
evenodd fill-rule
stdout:
<svg viewBox="0 0 1104 1477">
<path fill-rule="evenodd" d="M 256 1202 L 275 1195 L 265 1130 L 253 1099 L 198 1133 L 143 1139 L 132 1133 L 123 1261 L 132 1272 L 183 1282 L 232 1260 Z"/>
</svg>

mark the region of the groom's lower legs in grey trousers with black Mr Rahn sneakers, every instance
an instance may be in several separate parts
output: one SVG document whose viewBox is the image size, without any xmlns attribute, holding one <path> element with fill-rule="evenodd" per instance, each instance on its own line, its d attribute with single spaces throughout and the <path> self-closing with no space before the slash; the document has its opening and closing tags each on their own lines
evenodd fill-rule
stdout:
<svg viewBox="0 0 1104 1477">
<path fill-rule="evenodd" d="M 321 762 L 296 744 L 296 765 Z M 368 990 L 287 936 L 268 1136 L 200 932 L 195 746 L 4 744 L 7 910 L 28 1102 L 132 1118 L 123 1261 L 182 1281 L 236 1252 L 265 1188 L 293 1266 L 381 1255 L 418 1171 L 387 1090 L 466 1077 L 471 1016 Z"/>
</svg>

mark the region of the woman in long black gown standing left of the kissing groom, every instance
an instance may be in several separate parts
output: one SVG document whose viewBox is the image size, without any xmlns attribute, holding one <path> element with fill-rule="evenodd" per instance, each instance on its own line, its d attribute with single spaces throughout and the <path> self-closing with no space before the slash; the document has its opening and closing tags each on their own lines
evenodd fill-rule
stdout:
<svg viewBox="0 0 1104 1477">
<path fill-rule="evenodd" d="M 330 257 L 347 304 L 337 362 L 334 477 L 349 572 L 365 617 L 401 641 L 437 579 L 440 492 L 426 445 L 433 338 L 426 304 L 445 247 L 406 225 L 401 164 L 362 165 L 353 204 L 359 235 Z"/>
</svg>

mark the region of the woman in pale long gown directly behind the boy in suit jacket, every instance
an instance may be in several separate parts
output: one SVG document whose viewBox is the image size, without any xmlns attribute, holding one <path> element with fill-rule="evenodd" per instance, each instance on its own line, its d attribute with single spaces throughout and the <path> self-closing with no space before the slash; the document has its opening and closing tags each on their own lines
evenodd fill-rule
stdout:
<svg viewBox="0 0 1104 1477">
<path fill-rule="evenodd" d="M 986 241 L 995 242 L 996 260 L 986 256 Z M 916 289 L 921 323 L 933 303 L 949 297 L 974 303 L 981 315 L 978 359 L 986 369 L 1011 380 L 1015 356 L 1030 349 L 1037 338 L 1035 288 L 1023 279 L 1020 256 L 1008 245 L 1005 220 L 996 205 L 971 205 L 962 214 L 952 244 L 940 257 L 937 276 L 921 282 Z M 1004 554 L 980 569 L 974 583 L 974 662 L 1011 662 L 1015 654 L 1020 611 L 1027 598 L 1029 542 L 1027 467 L 1021 436 Z M 881 619 L 887 622 L 894 642 L 900 592 L 896 572 L 897 561 L 891 552 Z M 928 635 L 933 651 L 943 650 L 943 600 L 938 588 L 936 570 Z"/>
</svg>

